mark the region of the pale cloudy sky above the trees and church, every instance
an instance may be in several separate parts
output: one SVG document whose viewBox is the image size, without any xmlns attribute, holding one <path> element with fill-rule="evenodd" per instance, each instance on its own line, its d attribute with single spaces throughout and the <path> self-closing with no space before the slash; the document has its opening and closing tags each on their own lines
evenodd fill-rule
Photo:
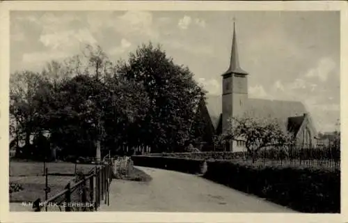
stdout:
<svg viewBox="0 0 348 223">
<path fill-rule="evenodd" d="M 100 45 L 113 61 L 160 44 L 208 94 L 221 94 L 235 18 L 249 98 L 299 100 L 318 131 L 340 118 L 340 14 L 334 11 L 12 11 L 10 72 Z"/>
</svg>

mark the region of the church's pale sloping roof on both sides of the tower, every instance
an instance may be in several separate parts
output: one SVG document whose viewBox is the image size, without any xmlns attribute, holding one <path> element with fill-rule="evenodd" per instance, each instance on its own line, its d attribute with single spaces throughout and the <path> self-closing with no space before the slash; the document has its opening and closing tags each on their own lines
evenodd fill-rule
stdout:
<svg viewBox="0 0 348 223">
<path fill-rule="evenodd" d="M 207 96 L 207 109 L 215 128 L 219 125 L 219 118 L 222 113 L 221 103 L 221 95 Z M 248 98 L 244 105 L 246 116 L 254 118 L 275 118 L 278 125 L 280 128 L 283 128 L 283 130 L 287 130 L 289 118 L 303 116 L 303 114 L 307 113 L 303 103 L 298 101 Z M 298 119 L 291 119 L 291 122 L 293 123 L 295 120 L 299 121 Z"/>
</svg>

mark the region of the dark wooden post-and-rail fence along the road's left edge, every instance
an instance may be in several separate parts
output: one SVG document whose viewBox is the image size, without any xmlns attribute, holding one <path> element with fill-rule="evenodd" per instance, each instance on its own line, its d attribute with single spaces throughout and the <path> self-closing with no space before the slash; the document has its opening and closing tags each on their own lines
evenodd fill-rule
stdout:
<svg viewBox="0 0 348 223">
<path fill-rule="evenodd" d="M 46 185 L 45 201 L 33 203 L 35 211 L 95 211 L 102 201 L 109 206 L 109 186 L 113 178 L 113 158 L 104 157 L 103 164 L 93 167 L 88 174 L 74 178 L 65 189 L 54 197 L 47 198 L 49 187 Z"/>
</svg>

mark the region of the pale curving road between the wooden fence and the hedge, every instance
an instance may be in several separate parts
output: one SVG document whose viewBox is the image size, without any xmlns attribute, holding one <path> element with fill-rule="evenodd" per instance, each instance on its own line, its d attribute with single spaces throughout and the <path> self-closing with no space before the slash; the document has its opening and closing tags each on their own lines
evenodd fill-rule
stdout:
<svg viewBox="0 0 348 223">
<path fill-rule="evenodd" d="M 103 205 L 100 211 L 296 213 L 200 176 L 164 169 L 136 168 L 152 176 L 152 180 L 114 180 L 110 189 L 110 206 Z"/>
</svg>

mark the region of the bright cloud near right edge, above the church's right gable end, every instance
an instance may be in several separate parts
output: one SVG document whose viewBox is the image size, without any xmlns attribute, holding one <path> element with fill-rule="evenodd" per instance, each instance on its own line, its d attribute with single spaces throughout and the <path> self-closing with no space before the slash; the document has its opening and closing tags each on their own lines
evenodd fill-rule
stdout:
<svg viewBox="0 0 348 223">
<path fill-rule="evenodd" d="M 326 82 L 326 79 L 336 68 L 336 63 L 329 57 L 324 57 L 317 62 L 315 68 L 311 68 L 306 73 L 306 77 L 317 77 L 321 82 Z"/>
</svg>

